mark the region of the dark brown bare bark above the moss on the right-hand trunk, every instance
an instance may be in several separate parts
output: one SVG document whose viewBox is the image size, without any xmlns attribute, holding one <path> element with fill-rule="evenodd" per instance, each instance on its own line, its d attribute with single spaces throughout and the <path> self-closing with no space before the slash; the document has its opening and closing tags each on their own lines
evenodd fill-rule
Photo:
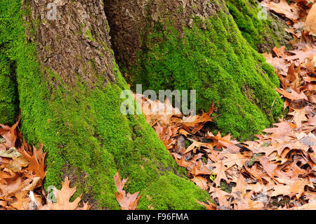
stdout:
<svg viewBox="0 0 316 224">
<path fill-rule="evenodd" d="M 208 1 L 198 0 L 105 0 L 115 55 L 126 67 L 134 66 L 136 52 L 146 44 L 144 35 L 151 32 L 157 23 L 166 25 L 170 20 L 178 32 L 183 33 L 183 27 L 192 25 L 192 15 L 209 18 L 223 8 L 223 2 L 209 4 Z"/>
</svg>

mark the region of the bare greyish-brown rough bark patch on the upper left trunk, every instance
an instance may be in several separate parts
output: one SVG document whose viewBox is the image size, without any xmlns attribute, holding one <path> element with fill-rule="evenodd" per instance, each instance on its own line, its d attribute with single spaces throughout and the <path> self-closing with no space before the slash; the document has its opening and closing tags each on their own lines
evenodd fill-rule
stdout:
<svg viewBox="0 0 316 224">
<path fill-rule="evenodd" d="M 101 1 L 56 1 L 57 20 L 47 20 L 47 3 L 32 6 L 32 19 L 41 21 L 36 30 L 37 53 L 44 67 L 57 72 L 63 82 L 75 84 L 77 76 L 91 88 L 103 77 L 115 82 L 110 37 Z M 51 84 L 55 81 L 50 80 Z"/>
</svg>

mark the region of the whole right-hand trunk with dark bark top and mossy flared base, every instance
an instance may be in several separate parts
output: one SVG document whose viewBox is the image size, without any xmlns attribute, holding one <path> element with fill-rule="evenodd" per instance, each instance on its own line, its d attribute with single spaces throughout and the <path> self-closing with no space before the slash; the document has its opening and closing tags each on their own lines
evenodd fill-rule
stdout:
<svg viewBox="0 0 316 224">
<path fill-rule="evenodd" d="M 225 1 L 105 1 L 112 47 L 135 88 L 197 91 L 197 109 L 212 100 L 217 126 L 244 140 L 282 114 L 279 80 L 242 37 Z"/>
</svg>

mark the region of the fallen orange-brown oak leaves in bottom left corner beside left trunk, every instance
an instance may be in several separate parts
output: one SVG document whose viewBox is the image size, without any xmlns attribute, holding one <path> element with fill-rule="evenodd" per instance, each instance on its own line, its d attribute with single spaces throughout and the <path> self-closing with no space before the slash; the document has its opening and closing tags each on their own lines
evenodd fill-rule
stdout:
<svg viewBox="0 0 316 224">
<path fill-rule="evenodd" d="M 53 203 L 46 198 L 43 180 L 46 176 L 43 145 L 30 147 L 18 131 L 18 122 L 12 127 L 0 128 L 0 210 L 73 210 L 90 209 L 88 204 L 78 208 L 81 197 L 70 202 L 76 187 L 70 188 L 67 178 L 61 190 L 55 190 Z"/>
</svg>

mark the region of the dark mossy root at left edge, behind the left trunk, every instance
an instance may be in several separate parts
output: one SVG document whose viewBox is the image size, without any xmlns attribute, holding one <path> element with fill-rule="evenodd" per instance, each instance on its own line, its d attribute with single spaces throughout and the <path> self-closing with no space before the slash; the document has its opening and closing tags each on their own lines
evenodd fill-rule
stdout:
<svg viewBox="0 0 316 224">
<path fill-rule="evenodd" d="M 15 62 L 0 47 L 0 124 L 14 124 L 18 119 L 18 89 Z"/>
</svg>

